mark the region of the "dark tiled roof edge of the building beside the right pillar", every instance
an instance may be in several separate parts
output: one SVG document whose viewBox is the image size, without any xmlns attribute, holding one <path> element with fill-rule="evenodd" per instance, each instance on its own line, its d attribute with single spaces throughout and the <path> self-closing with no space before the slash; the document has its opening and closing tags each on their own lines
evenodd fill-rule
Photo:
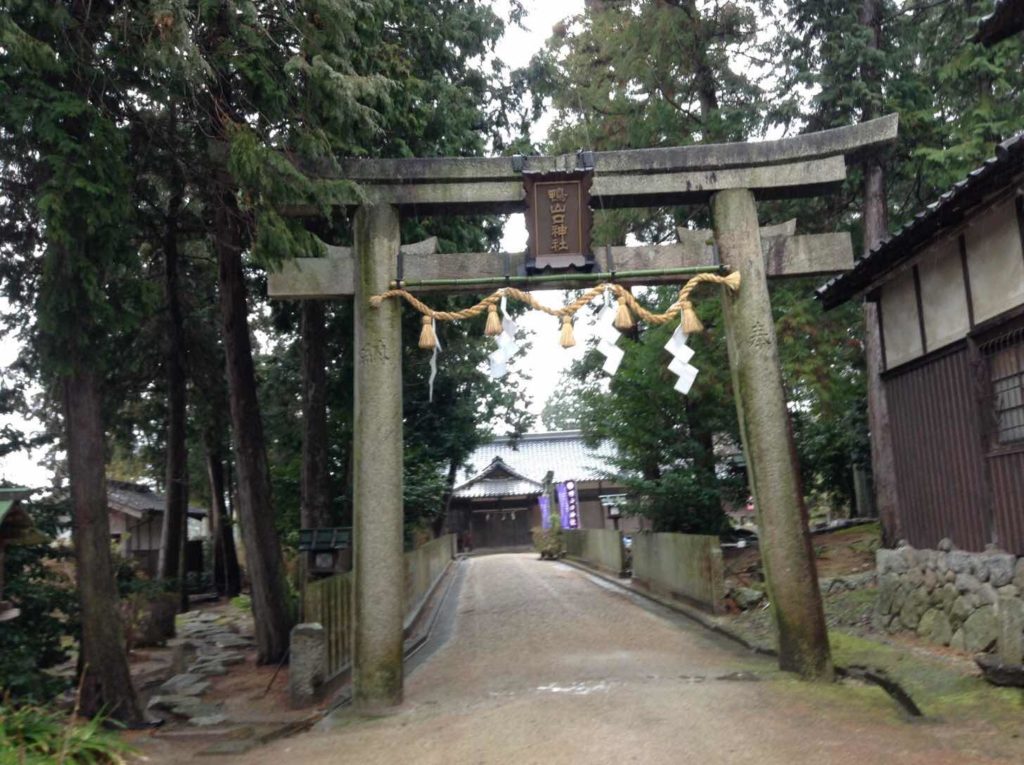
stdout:
<svg viewBox="0 0 1024 765">
<path fill-rule="evenodd" d="M 849 273 L 829 280 L 817 290 L 825 308 L 834 308 L 867 290 L 881 277 L 911 258 L 944 228 L 959 225 L 974 207 L 1024 171 L 1024 133 L 1002 141 L 995 157 L 914 216 L 857 261 Z"/>
</svg>

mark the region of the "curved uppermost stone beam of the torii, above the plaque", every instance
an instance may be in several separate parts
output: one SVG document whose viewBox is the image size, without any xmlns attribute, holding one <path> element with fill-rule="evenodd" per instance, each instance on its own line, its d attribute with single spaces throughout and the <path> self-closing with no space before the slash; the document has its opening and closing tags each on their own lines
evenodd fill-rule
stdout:
<svg viewBox="0 0 1024 765">
<path fill-rule="evenodd" d="M 690 146 L 595 152 L 598 177 L 609 174 L 718 171 L 727 168 L 781 165 L 825 157 L 852 157 L 896 139 L 898 115 L 849 127 L 822 130 L 778 140 L 708 143 Z M 525 172 L 557 172 L 580 169 L 577 155 L 524 158 Z M 511 157 L 458 157 L 431 159 L 342 159 L 333 168 L 306 168 L 321 177 L 347 178 L 358 182 L 403 183 L 429 181 L 513 181 L 519 172 Z"/>
</svg>

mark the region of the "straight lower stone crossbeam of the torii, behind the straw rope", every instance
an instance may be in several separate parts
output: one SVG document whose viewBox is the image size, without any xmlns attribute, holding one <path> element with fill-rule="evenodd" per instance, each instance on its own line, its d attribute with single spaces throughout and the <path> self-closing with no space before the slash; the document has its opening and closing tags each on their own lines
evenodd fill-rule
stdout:
<svg viewBox="0 0 1024 765">
<path fill-rule="evenodd" d="M 766 226 L 764 232 L 776 227 Z M 688 231 L 685 241 L 672 245 L 639 245 L 612 247 L 611 266 L 616 271 L 662 270 L 715 265 L 715 250 L 710 244 L 710 231 Z M 688 236 L 693 235 L 693 236 Z M 839 273 L 853 267 L 853 246 L 850 235 L 816 233 L 805 236 L 773 236 L 762 238 L 765 267 L 771 278 L 821 275 Z M 403 247 L 404 249 L 404 247 Z M 268 274 L 267 292 L 276 299 L 330 298 L 351 295 L 353 264 L 347 248 L 329 247 L 330 257 L 300 258 L 284 264 L 282 270 Z M 608 270 L 603 250 L 597 253 L 597 267 Z M 506 270 L 506 263 L 508 269 Z M 395 265 L 391 279 L 397 278 Z M 432 279 L 479 279 L 509 275 L 513 280 L 526 273 L 524 253 L 429 253 L 408 254 L 403 279 L 408 282 Z M 679 284 L 680 277 L 644 277 L 616 280 L 628 286 Z M 580 284 L 546 284 L 545 289 L 573 289 Z M 417 292 L 487 292 L 481 288 L 417 287 Z"/>
</svg>

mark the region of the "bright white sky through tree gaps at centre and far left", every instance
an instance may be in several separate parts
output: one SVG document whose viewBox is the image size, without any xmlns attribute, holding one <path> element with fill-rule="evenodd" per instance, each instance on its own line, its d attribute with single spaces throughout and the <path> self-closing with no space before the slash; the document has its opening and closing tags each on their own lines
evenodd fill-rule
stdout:
<svg viewBox="0 0 1024 765">
<path fill-rule="evenodd" d="M 523 0 L 523 6 L 527 11 L 524 19 L 526 29 L 510 27 L 497 49 L 498 56 L 513 69 L 523 67 L 529 61 L 534 53 L 543 47 L 552 28 L 559 20 L 581 12 L 583 0 Z M 495 9 L 499 14 L 507 14 L 507 0 L 497 0 Z M 535 139 L 544 137 L 548 124 L 544 121 L 538 126 Z M 511 252 L 526 249 L 526 228 L 522 215 L 510 217 L 502 249 Z M 538 297 L 552 306 L 563 302 L 563 295 L 560 292 L 541 292 L 538 293 Z M 0 312 L 8 309 L 9 306 L 0 301 Z M 586 340 L 591 334 L 585 325 L 585 322 L 580 322 L 577 326 L 577 347 L 566 350 L 559 345 L 560 326 L 557 320 L 539 311 L 530 311 L 519 320 L 519 326 L 530 335 L 532 347 L 528 352 L 516 356 L 509 368 L 510 374 L 525 373 L 531 378 L 527 390 L 532 399 L 530 408 L 532 412 L 540 414 L 548 395 L 554 390 L 562 369 L 573 358 L 583 355 Z M 15 338 L 0 336 L 0 386 L 4 384 L 6 369 L 17 356 L 18 349 L 19 344 Z M 443 371 L 440 374 L 443 374 Z M 0 427 L 7 423 L 19 427 L 25 427 L 27 424 L 19 417 L 0 417 Z M 31 430 L 38 426 L 28 423 L 28 427 Z M 537 429 L 543 429 L 540 422 Z M 42 456 L 41 452 L 37 452 L 0 457 L 0 478 L 29 486 L 49 484 L 52 477 L 50 471 L 38 464 Z"/>
</svg>

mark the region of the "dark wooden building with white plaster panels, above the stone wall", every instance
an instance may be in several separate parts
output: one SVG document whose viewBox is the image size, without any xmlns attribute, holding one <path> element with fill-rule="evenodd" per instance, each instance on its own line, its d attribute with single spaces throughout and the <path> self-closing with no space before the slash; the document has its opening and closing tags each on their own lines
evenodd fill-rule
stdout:
<svg viewBox="0 0 1024 765">
<path fill-rule="evenodd" d="M 1024 133 L 819 291 L 879 306 L 893 538 L 1024 555 Z"/>
</svg>

